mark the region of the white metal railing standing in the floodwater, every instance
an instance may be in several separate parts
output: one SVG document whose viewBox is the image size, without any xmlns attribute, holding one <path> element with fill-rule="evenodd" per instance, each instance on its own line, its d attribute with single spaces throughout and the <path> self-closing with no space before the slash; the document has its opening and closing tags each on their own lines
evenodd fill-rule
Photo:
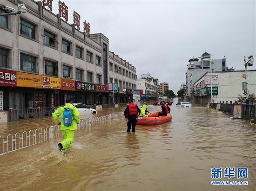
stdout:
<svg viewBox="0 0 256 191">
<path fill-rule="evenodd" d="M 87 127 L 91 127 L 114 119 L 123 118 L 124 113 L 115 113 L 110 115 L 102 115 L 99 117 L 81 120 L 78 124 L 77 131 L 80 132 Z M 47 141 L 49 139 L 59 138 L 62 136 L 62 131 L 59 125 L 37 128 L 35 130 L 24 131 L 22 134 L 8 134 L 7 137 L 0 136 L 0 155 L 13 151 L 27 148 L 28 146 Z"/>
</svg>

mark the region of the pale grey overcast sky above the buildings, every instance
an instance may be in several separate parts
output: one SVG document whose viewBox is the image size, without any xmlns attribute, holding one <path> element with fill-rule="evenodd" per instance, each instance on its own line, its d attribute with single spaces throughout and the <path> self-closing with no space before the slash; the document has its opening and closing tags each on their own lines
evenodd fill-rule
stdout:
<svg viewBox="0 0 256 191">
<path fill-rule="evenodd" d="M 58 13 L 54 0 L 53 13 Z M 256 57 L 256 3 L 252 1 L 89 1 L 65 0 L 73 11 L 103 33 L 114 51 L 137 69 L 168 82 L 175 94 L 186 82 L 187 64 L 207 51 L 242 70 L 243 56 Z M 256 69 L 256 62 L 250 69 Z"/>
</svg>

